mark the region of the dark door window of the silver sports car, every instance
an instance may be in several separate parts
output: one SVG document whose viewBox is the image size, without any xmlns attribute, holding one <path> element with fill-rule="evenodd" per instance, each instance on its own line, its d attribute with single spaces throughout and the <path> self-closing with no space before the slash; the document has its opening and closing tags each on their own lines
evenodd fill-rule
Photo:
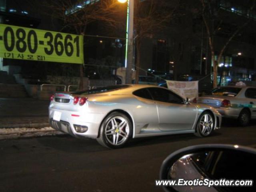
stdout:
<svg viewBox="0 0 256 192">
<path fill-rule="evenodd" d="M 148 90 L 152 94 L 153 99 L 156 101 L 178 104 L 184 103 L 180 96 L 170 90 L 163 88 L 148 88 Z"/>
</svg>

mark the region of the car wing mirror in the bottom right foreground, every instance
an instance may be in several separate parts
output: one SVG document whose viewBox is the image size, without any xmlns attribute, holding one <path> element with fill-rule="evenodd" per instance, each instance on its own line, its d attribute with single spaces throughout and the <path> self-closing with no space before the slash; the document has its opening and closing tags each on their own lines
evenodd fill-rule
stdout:
<svg viewBox="0 0 256 192">
<path fill-rule="evenodd" d="M 256 191 L 256 150 L 238 145 L 190 146 L 162 163 L 160 180 L 166 192 Z"/>
</svg>

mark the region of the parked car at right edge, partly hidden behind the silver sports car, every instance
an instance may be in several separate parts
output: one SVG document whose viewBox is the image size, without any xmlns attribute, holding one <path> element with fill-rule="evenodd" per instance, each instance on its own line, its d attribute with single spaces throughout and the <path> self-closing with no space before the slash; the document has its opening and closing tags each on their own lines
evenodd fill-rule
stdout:
<svg viewBox="0 0 256 192">
<path fill-rule="evenodd" d="M 212 90 L 211 95 L 199 97 L 198 103 L 213 106 L 225 118 L 238 119 L 242 126 L 256 119 L 256 88 L 226 86 Z"/>
</svg>

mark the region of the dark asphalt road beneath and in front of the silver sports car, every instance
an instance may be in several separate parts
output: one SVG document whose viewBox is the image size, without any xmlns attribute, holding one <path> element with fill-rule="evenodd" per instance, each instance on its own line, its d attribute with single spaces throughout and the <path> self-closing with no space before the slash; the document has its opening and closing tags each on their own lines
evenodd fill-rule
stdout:
<svg viewBox="0 0 256 192">
<path fill-rule="evenodd" d="M 136 139 L 109 150 L 96 140 L 49 136 L 0 140 L 1 192 L 146 192 L 170 153 L 196 144 L 256 146 L 256 124 L 226 124 L 208 138 L 193 134 Z"/>
</svg>

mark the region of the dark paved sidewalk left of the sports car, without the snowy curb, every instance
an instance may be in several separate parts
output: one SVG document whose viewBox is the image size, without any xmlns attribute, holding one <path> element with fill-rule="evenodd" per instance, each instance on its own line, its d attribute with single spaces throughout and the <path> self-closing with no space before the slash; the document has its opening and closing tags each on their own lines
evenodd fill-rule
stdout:
<svg viewBox="0 0 256 192">
<path fill-rule="evenodd" d="M 49 127 L 49 100 L 0 98 L 0 128 Z"/>
</svg>

